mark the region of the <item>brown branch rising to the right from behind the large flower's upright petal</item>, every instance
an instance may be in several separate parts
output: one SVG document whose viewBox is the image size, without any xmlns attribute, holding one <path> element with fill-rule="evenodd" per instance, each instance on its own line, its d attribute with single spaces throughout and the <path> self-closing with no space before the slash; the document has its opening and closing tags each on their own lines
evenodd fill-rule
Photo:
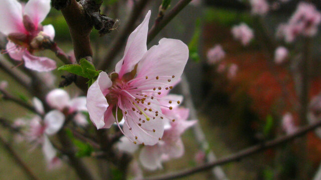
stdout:
<svg viewBox="0 0 321 180">
<path fill-rule="evenodd" d="M 180 0 L 173 9 L 164 15 L 162 20 L 157 21 L 158 23 L 155 23 L 148 31 L 147 44 L 191 1 Z"/>
</svg>

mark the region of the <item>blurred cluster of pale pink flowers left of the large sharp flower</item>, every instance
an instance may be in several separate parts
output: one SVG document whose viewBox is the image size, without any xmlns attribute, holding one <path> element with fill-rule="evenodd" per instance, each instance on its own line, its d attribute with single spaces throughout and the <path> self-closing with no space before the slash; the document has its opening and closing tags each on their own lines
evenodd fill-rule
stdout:
<svg viewBox="0 0 321 180">
<path fill-rule="evenodd" d="M 66 117 L 72 116 L 75 124 L 86 126 L 88 121 L 82 112 L 86 112 L 86 97 L 80 96 L 70 99 L 68 93 L 62 89 L 53 89 L 46 96 L 47 104 L 53 109 L 45 114 L 41 100 L 34 97 L 33 104 L 39 115 L 31 119 L 19 118 L 15 121 L 15 126 L 24 129 L 24 136 L 34 146 L 42 145 L 43 153 L 49 168 L 57 167 L 61 164 L 48 136 L 56 134 L 65 123 Z"/>
</svg>

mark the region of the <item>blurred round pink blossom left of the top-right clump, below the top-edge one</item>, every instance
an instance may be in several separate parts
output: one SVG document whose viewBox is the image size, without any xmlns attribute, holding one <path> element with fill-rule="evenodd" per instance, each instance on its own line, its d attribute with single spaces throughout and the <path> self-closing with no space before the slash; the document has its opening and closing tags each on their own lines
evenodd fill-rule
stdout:
<svg viewBox="0 0 321 180">
<path fill-rule="evenodd" d="M 253 30 L 244 22 L 232 27 L 232 34 L 235 39 L 240 40 L 243 45 L 248 45 L 254 37 Z"/>
</svg>

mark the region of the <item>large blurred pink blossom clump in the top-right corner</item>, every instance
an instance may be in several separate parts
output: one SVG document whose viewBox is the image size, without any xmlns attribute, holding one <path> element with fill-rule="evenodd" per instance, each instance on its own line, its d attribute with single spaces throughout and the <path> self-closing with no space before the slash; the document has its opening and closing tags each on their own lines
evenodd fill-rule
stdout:
<svg viewBox="0 0 321 180">
<path fill-rule="evenodd" d="M 279 25 L 277 36 L 292 42 L 296 36 L 313 36 L 321 22 L 321 13 L 311 3 L 300 2 L 287 23 Z"/>
</svg>

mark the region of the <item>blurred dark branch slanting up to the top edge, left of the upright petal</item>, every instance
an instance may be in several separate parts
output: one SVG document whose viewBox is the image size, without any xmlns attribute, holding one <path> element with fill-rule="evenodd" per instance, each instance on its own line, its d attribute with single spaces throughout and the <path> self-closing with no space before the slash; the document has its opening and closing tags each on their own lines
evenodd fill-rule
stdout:
<svg viewBox="0 0 321 180">
<path fill-rule="evenodd" d="M 129 19 L 126 21 L 125 26 L 120 29 L 119 33 L 117 33 L 116 37 L 113 39 L 109 48 L 104 56 L 103 60 L 98 64 L 98 69 L 106 69 L 112 63 L 112 59 L 118 54 L 123 45 L 126 43 L 127 35 L 134 29 L 135 22 L 142 9 L 146 6 L 148 0 L 139 0 L 135 3 L 132 11 L 130 12 Z"/>
</svg>

